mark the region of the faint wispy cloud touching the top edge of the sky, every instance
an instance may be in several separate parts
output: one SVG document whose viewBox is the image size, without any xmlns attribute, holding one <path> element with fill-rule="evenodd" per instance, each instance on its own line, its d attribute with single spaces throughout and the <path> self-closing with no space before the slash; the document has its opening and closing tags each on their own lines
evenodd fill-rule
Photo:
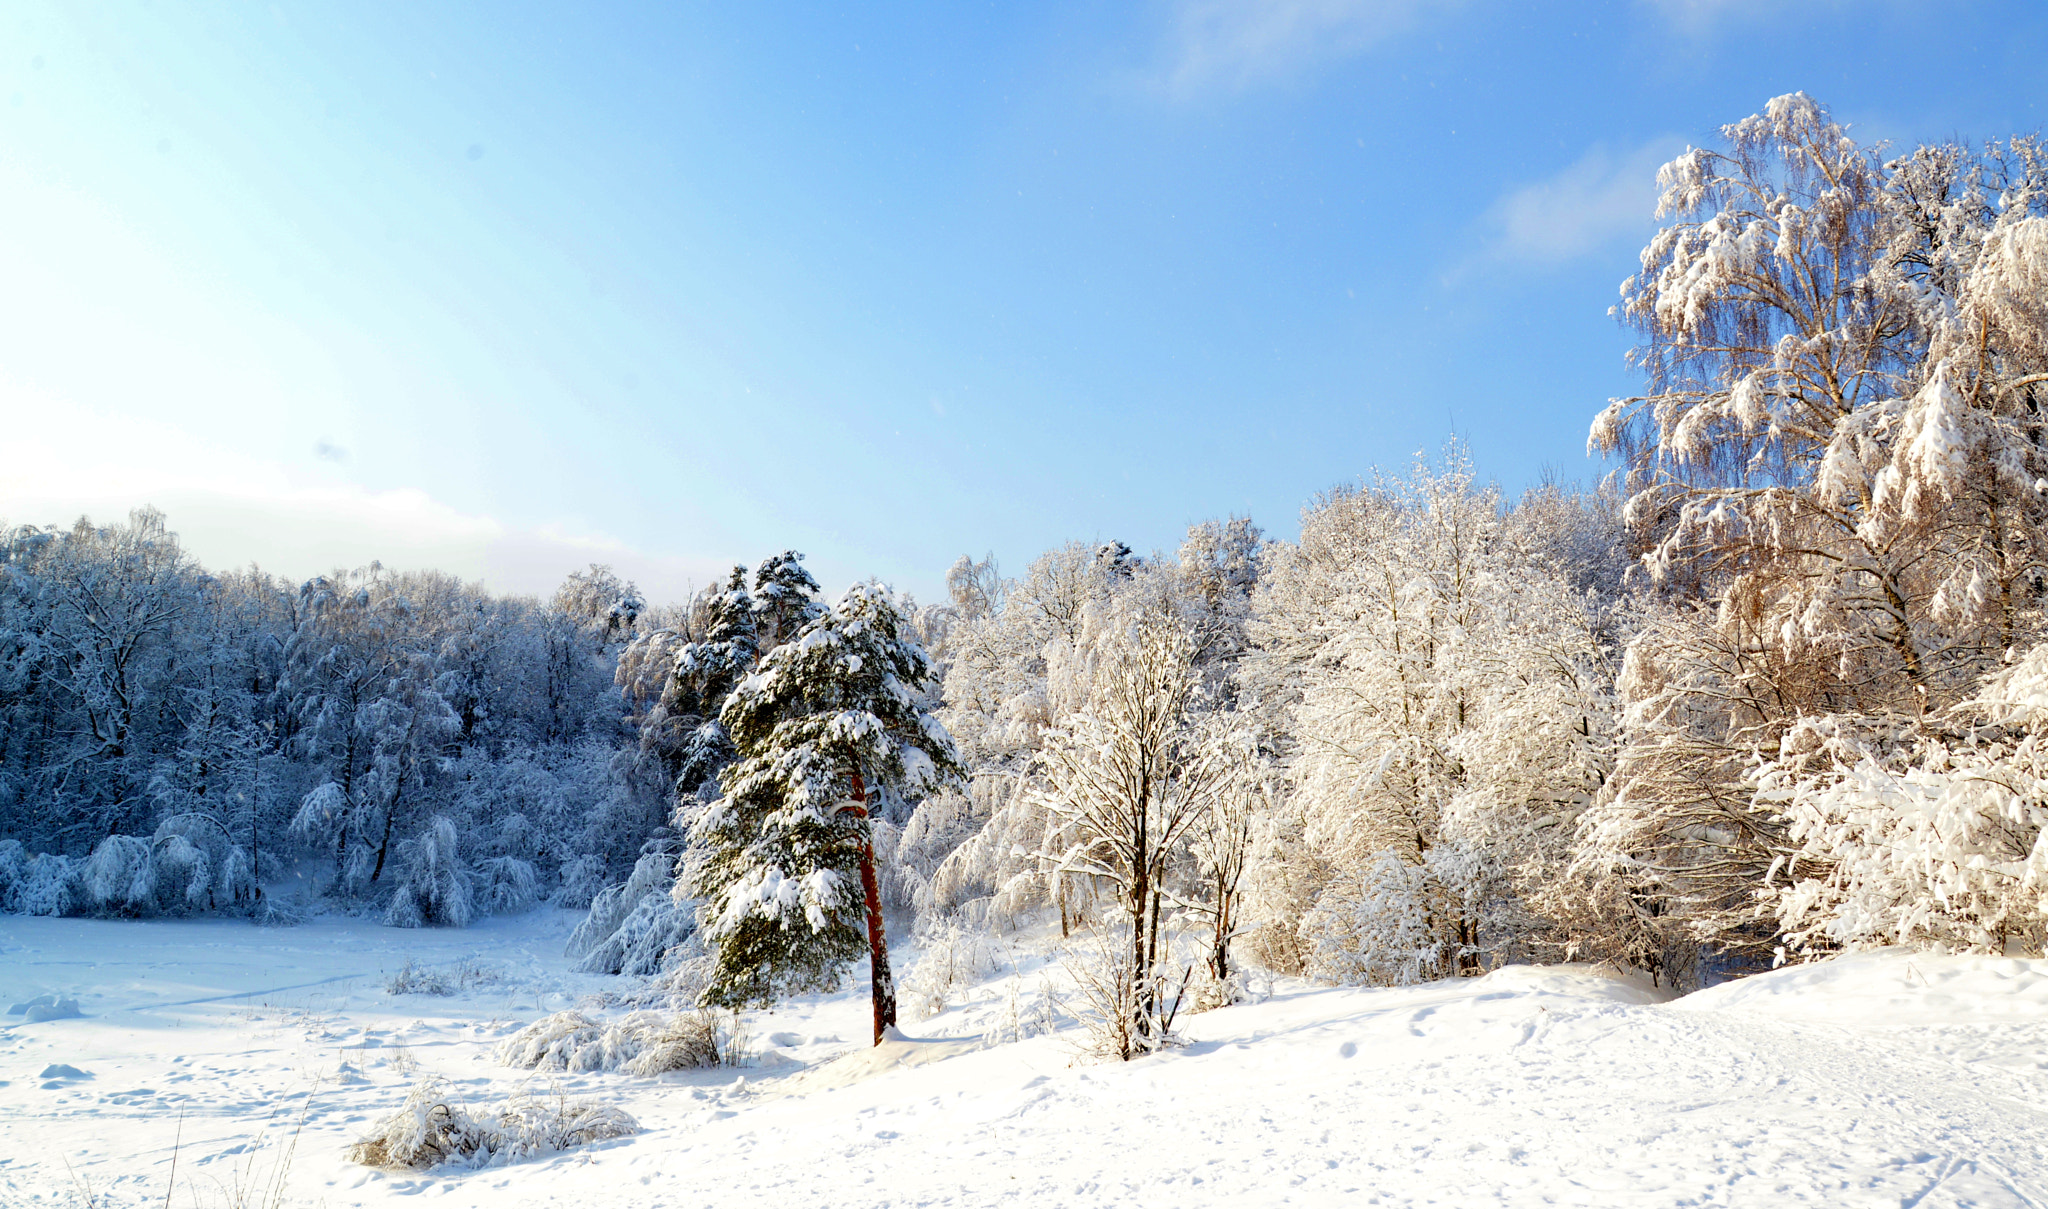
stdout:
<svg viewBox="0 0 2048 1209">
<path fill-rule="evenodd" d="M 1462 0 L 1182 0 L 1165 86 L 1176 94 L 1286 82 L 1356 55 Z"/>
</svg>

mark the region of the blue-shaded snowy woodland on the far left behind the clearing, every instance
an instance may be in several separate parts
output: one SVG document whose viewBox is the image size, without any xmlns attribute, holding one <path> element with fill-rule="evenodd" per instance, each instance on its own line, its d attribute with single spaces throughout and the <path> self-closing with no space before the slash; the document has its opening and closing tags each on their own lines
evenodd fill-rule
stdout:
<svg viewBox="0 0 2048 1209">
<path fill-rule="evenodd" d="M 299 586 L 207 574 L 150 510 L 10 529 L 0 834 L 76 877 L 43 861 L 0 902 L 279 918 L 256 887 L 317 852 L 328 895 L 387 908 L 397 844 L 436 816 L 492 910 L 580 859 L 594 893 L 670 811 L 612 684 L 643 615 L 668 619 L 602 568 L 539 602 L 375 564 Z"/>
</svg>

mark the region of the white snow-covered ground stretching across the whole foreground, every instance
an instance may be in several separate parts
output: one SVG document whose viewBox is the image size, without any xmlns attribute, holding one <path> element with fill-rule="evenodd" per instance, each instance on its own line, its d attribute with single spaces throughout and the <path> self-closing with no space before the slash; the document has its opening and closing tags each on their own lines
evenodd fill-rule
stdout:
<svg viewBox="0 0 2048 1209">
<path fill-rule="evenodd" d="M 0 1016 L 0 1205 L 164 1205 L 174 1160 L 178 1209 L 279 1172 L 287 1205 L 332 1209 L 2048 1205 L 2044 961 L 1878 953 L 1681 1000 L 1587 967 L 1282 988 L 1118 1066 L 1079 1059 L 1071 1025 L 1032 1035 L 1057 967 L 1016 957 L 907 1033 L 1022 1041 L 831 1066 L 862 1049 L 854 990 L 750 1016 L 737 1072 L 498 1066 L 520 1025 L 623 986 L 569 973 L 571 924 L 0 916 L 0 1000 L 84 1012 Z M 391 994 L 408 961 L 455 994 Z M 424 1074 L 475 1102 L 561 1084 L 643 1133 L 483 1170 L 350 1164 Z"/>
</svg>

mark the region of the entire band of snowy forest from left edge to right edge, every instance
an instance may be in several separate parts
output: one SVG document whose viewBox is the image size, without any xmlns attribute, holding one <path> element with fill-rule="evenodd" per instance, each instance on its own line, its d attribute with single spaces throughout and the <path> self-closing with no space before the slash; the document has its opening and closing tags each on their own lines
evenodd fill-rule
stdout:
<svg viewBox="0 0 2048 1209">
<path fill-rule="evenodd" d="M 881 920 L 1057 926 L 1124 1055 L 1249 969 L 2042 955 L 2048 145 L 1864 145 L 1792 94 L 1659 186 L 1597 486 L 1452 443 L 1294 541 L 961 557 L 936 602 L 797 551 L 651 604 L 209 572 L 150 508 L 6 529 L 0 906 L 545 904 L 707 1004 L 870 957 L 879 1027 Z"/>
</svg>

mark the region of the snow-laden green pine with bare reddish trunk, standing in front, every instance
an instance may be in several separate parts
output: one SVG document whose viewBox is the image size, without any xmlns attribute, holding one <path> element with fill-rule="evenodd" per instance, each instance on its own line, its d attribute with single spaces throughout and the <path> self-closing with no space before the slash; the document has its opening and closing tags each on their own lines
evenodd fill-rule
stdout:
<svg viewBox="0 0 2048 1209">
<path fill-rule="evenodd" d="M 709 1004 L 827 984 L 860 955 L 864 920 L 874 1041 L 895 1025 L 868 807 L 961 777 L 952 738 L 924 705 L 932 680 L 889 588 L 854 584 L 727 697 L 719 717 L 739 762 L 719 779 L 725 797 L 696 816 L 678 883 L 705 900 Z"/>
</svg>

